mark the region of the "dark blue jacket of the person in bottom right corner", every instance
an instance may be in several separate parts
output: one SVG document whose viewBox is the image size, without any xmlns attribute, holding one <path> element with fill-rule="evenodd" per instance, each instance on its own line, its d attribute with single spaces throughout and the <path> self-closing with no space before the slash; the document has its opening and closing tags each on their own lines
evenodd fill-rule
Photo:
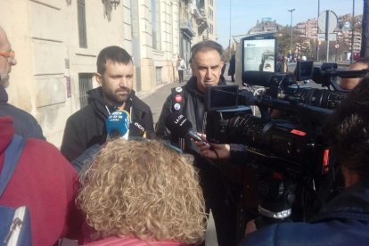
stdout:
<svg viewBox="0 0 369 246">
<path fill-rule="evenodd" d="M 245 237 L 240 245 L 368 245 L 369 182 L 332 199 L 311 223 L 279 223 Z"/>
</svg>

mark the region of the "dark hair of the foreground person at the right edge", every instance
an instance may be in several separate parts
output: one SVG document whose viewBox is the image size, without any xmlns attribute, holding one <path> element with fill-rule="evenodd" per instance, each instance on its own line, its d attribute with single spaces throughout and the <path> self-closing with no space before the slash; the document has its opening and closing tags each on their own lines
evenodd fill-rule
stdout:
<svg viewBox="0 0 369 246">
<path fill-rule="evenodd" d="M 340 165 L 369 177 L 369 77 L 341 102 L 325 128 Z"/>
</svg>

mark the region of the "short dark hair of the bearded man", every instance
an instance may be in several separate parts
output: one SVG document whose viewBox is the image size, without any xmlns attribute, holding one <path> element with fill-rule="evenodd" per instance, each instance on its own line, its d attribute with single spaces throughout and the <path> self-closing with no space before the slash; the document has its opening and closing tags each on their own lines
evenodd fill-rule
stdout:
<svg viewBox="0 0 369 246">
<path fill-rule="evenodd" d="M 103 48 L 97 56 L 96 66 L 98 73 L 103 74 L 105 72 L 105 64 L 108 59 L 123 64 L 133 63 L 131 55 L 125 49 L 114 45 L 108 46 Z"/>
</svg>

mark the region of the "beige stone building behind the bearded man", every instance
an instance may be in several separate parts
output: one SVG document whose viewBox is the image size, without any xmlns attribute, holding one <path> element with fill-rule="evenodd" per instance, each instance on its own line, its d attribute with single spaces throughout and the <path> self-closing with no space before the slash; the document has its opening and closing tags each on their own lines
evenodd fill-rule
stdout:
<svg viewBox="0 0 369 246">
<path fill-rule="evenodd" d="M 18 61 L 10 102 L 34 115 L 47 140 L 60 146 L 66 119 L 98 86 L 100 50 L 119 45 L 132 54 L 136 92 L 173 82 L 177 55 L 189 58 L 208 29 L 204 1 L 2 0 L 0 25 Z"/>
</svg>

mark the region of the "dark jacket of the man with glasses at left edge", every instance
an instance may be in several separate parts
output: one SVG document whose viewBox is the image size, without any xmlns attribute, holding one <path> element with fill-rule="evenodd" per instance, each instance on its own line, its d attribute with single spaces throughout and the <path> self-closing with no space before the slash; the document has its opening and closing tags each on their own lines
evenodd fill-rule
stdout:
<svg viewBox="0 0 369 246">
<path fill-rule="evenodd" d="M 22 111 L 8 103 L 8 94 L 0 85 L 0 117 L 10 116 L 14 119 L 14 129 L 17 135 L 24 138 L 45 139 L 42 128 L 37 120 L 26 111 Z"/>
</svg>

